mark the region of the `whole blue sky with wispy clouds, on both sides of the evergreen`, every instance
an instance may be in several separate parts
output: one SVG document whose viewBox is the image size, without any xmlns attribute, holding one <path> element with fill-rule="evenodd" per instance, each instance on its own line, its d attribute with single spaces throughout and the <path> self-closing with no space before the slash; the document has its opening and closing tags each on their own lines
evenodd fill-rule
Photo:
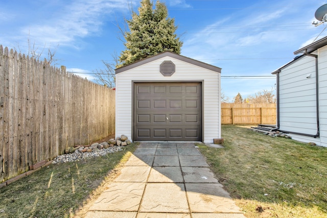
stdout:
<svg viewBox="0 0 327 218">
<path fill-rule="evenodd" d="M 94 79 L 102 60 L 124 50 L 123 27 L 139 0 L 1 0 L 0 44 L 28 51 L 28 39 L 44 55 L 56 51 L 57 66 Z M 327 1 L 163 0 L 183 41 L 181 55 L 222 68 L 222 92 L 232 99 L 270 90 L 270 73 L 293 52 L 327 35 L 314 27 L 315 11 Z M 154 2 L 155 3 L 155 2 Z M 232 76 L 232 77 L 231 77 Z M 246 78 L 244 76 L 252 76 Z M 264 76 L 264 77 L 262 77 Z"/>
</svg>

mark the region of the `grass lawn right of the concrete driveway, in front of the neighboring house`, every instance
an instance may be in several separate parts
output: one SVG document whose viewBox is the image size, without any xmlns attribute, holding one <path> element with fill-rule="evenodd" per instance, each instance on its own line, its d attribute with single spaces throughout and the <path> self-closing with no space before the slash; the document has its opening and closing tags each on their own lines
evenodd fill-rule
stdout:
<svg viewBox="0 0 327 218">
<path fill-rule="evenodd" d="M 327 148 L 222 126 L 224 149 L 200 146 L 246 217 L 327 217 Z"/>
</svg>

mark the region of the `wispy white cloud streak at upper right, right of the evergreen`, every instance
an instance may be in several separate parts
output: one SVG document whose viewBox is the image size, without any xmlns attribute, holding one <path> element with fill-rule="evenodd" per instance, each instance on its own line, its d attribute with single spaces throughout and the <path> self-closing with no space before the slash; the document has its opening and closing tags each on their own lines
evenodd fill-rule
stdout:
<svg viewBox="0 0 327 218">
<path fill-rule="evenodd" d="M 305 1 L 298 2 L 294 5 L 292 2 L 281 1 L 271 3 L 269 7 L 260 2 L 229 14 L 223 19 L 214 20 L 212 25 L 197 31 L 199 33 L 188 34 L 182 52 L 191 54 L 191 57 L 199 57 L 200 53 L 207 57 L 235 58 L 240 55 L 253 57 L 260 51 L 268 56 L 269 51 L 276 51 L 278 45 L 285 46 L 288 41 L 296 44 L 296 41 L 301 38 L 296 29 L 308 27 L 296 27 L 295 24 L 306 22 L 309 17 L 312 17 L 311 14 L 298 16 L 300 8 L 307 7 L 309 4 Z M 294 24 L 283 25 L 284 23 Z M 292 46 L 292 43 L 288 46 Z M 284 47 L 279 49 L 283 50 Z"/>
</svg>

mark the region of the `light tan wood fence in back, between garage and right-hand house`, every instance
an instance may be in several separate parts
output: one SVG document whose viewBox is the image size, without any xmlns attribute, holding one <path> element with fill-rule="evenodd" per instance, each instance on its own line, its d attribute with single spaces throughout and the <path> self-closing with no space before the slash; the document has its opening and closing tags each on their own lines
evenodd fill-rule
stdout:
<svg viewBox="0 0 327 218">
<path fill-rule="evenodd" d="M 221 103 L 221 124 L 276 124 L 276 104 Z"/>
</svg>

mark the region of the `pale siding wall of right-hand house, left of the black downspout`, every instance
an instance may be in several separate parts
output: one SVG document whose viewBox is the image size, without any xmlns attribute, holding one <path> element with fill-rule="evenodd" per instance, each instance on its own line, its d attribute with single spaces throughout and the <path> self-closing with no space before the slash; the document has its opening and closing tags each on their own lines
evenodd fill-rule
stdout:
<svg viewBox="0 0 327 218">
<path fill-rule="evenodd" d="M 307 75 L 311 74 L 311 78 Z M 315 58 L 304 57 L 279 73 L 279 128 L 315 135 Z"/>
</svg>

